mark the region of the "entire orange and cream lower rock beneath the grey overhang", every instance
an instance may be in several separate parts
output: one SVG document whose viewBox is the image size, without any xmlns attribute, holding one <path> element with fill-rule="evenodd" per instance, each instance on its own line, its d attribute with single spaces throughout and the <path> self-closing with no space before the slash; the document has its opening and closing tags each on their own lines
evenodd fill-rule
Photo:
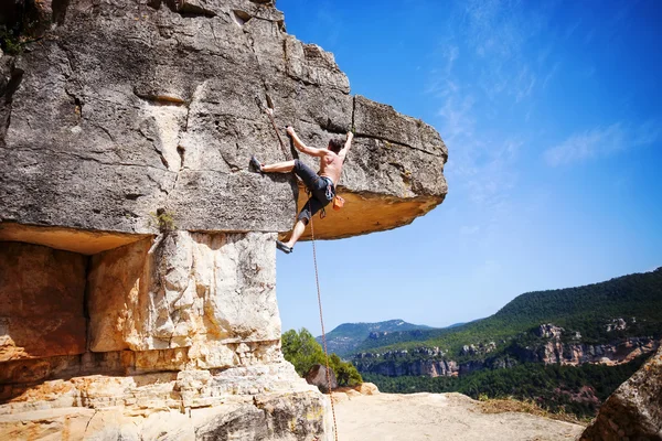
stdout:
<svg viewBox="0 0 662 441">
<path fill-rule="evenodd" d="M 93 257 L 0 243 L 2 438 L 330 433 L 280 353 L 275 235 L 172 232 Z"/>
</svg>

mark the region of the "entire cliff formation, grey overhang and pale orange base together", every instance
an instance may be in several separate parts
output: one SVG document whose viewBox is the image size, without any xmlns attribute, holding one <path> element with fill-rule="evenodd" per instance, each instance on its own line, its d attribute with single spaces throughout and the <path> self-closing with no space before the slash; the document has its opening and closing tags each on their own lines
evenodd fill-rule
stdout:
<svg viewBox="0 0 662 441">
<path fill-rule="evenodd" d="M 439 135 L 350 95 L 268 0 L 17 1 L 0 24 L 30 41 L 0 52 L 0 438 L 331 435 L 280 353 L 274 240 L 305 195 L 247 170 L 296 153 L 256 98 L 312 146 L 356 130 L 318 238 L 440 204 Z"/>
</svg>

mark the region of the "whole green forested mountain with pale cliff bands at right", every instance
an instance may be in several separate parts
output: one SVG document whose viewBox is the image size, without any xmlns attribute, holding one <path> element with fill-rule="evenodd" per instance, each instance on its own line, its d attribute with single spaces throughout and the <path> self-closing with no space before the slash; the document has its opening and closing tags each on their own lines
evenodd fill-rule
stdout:
<svg viewBox="0 0 662 441">
<path fill-rule="evenodd" d="M 371 335 L 350 359 L 382 391 L 516 397 L 594 417 L 660 344 L 662 268 L 528 292 L 453 327 Z"/>
</svg>

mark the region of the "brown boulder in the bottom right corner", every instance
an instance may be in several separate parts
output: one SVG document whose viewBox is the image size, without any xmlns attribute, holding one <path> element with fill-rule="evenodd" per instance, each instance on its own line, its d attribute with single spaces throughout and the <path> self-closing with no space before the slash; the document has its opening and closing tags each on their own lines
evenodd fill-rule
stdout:
<svg viewBox="0 0 662 441">
<path fill-rule="evenodd" d="M 662 347 L 605 401 L 581 440 L 662 440 Z"/>
</svg>

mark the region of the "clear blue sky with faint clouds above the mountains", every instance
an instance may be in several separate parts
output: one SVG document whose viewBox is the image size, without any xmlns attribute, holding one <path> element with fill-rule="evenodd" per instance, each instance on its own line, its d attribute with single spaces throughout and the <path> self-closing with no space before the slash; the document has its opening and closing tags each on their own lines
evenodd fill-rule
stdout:
<svg viewBox="0 0 662 441">
<path fill-rule="evenodd" d="M 319 241 L 327 331 L 445 326 L 516 295 L 662 266 L 662 2 L 278 0 L 353 94 L 433 125 L 449 193 Z M 310 243 L 278 255 L 284 331 L 320 333 Z"/>
</svg>

